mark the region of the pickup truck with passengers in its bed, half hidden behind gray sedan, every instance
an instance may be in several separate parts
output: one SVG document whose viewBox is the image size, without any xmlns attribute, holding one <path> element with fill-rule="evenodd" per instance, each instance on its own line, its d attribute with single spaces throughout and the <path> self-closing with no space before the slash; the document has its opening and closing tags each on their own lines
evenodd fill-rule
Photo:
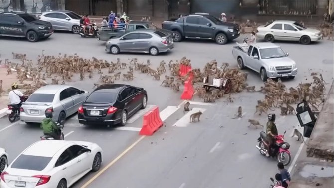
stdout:
<svg viewBox="0 0 334 188">
<path fill-rule="evenodd" d="M 98 40 L 108 41 L 111 38 L 121 37 L 124 34 L 137 30 L 137 29 L 153 29 L 159 30 L 167 35 L 172 35 L 173 32 L 156 27 L 153 23 L 148 21 L 130 21 L 126 25 L 118 25 L 117 27 L 109 27 L 108 25 L 102 25 L 99 31 Z"/>
</svg>

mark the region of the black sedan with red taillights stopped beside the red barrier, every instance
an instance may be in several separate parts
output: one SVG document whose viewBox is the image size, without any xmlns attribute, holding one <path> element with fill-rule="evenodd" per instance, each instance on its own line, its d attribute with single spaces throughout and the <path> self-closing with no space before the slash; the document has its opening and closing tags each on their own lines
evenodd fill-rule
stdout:
<svg viewBox="0 0 334 188">
<path fill-rule="evenodd" d="M 147 104 L 143 88 L 125 84 L 104 84 L 96 88 L 78 109 L 84 125 L 125 126 L 127 119 Z"/>
</svg>

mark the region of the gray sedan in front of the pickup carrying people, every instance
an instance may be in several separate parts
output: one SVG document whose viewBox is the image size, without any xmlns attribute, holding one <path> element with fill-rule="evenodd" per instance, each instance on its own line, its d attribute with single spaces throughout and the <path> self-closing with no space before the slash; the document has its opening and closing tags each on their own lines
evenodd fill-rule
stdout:
<svg viewBox="0 0 334 188">
<path fill-rule="evenodd" d="M 152 29 L 138 29 L 118 38 L 107 41 L 105 51 L 112 54 L 120 52 L 142 52 L 153 56 L 174 48 L 170 35 Z"/>
</svg>

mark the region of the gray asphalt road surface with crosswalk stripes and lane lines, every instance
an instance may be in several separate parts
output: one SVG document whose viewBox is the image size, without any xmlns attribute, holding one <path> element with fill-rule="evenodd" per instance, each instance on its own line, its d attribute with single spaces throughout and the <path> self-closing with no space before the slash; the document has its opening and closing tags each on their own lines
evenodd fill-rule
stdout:
<svg viewBox="0 0 334 188">
<path fill-rule="evenodd" d="M 243 37 L 237 41 L 241 42 Z M 228 62 L 236 66 L 232 56 L 232 46 L 216 45 L 208 41 L 184 41 L 176 43 L 172 52 L 160 56 L 143 54 L 111 55 L 104 51 L 104 42 L 93 38 L 81 38 L 69 33 L 54 33 L 48 40 L 29 43 L 23 39 L 0 39 L 2 59 L 11 58 L 11 52 L 25 53 L 28 59 L 36 60 L 44 49 L 45 54 L 74 54 L 90 58 L 123 62 L 137 57 L 140 61 L 151 60 L 152 67 L 161 60 L 177 60 L 186 56 L 191 59 L 192 67 L 203 68 L 206 62 L 216 59 L 219 63 Z M 333 41 L 322 40 L 312 45 L 298 43 L 277 43 L 290 53 L 298 67 L 294 80 L 283 80 L 287 87 L 295 87 L 300 82 L 312 81 L 311 72 L 320 71 L 327 83 L 333 79 Z M 260 77 L 246 70 L 249 85 L 257 89 L 263 85 Z M 167 72 L 168 73 L 168 72 Z M 66 140 L 84 140 L 99 144 L 104 150 L 102 173 L 90 173 L 78 181 L 73 188 L 266 188 L 269 177 L 277 173 L 277 162 L 260 155 L 255 148 L 260 128 L 247 128 L 248 119 L 257 119 L 266 123 L 266 115 L 253 115 L 256 101 L 264 96 L 260 93 L 233 94 L 233 103 L 222 98 L 214 105 L 191 104 L 193 111 L 203 111 L 201 121 L 189 123 L 189 114 L 177 110 L 181 104 L 181 93 L 160 87 L 161 81 L 136 73 L 131 85 L 144 87 L 148 91 L 148 109 L 159 106 L 164 126 L 153 136 L 141 137 L 138 132 L 142 126 L 142 115 L 130 119 L 125 128 L 88 128 L 80 126 L 73 116 L 67 120 L 64 128 Z M 307 80 L 306 80 L 307 79 Z M 66 83 L 92 91 L 93 79 Z M 125 83 L 125 81 L 118 81 Z M 193 101 L 202 102 L 197 96 Z M 244 117 L 231 119 L 238 106 L 243 107 Z M 146 110 L 148 110 L 146 109 Z M 165 109 L 165 110 L 164 110 Z M 164 112 L 162 112 L 164 110 Z M 290 138 L 291 131 L 297 126 L 295 116 L 279 116 L 279 133 L 287 130 L 286 141 L 291 144 L 291 156 L 295 157 L 300 143 Z M 7 117 L 0 119 L 0 147 L 9 153 L 11 162 L 23 149 L 39 139 L 42 132 L 38 125 L 26 125 L 22 122 L 9 123 Z M 135 144 L 134 144 L 135 143 Z M 107 168 L 110 166 L 110 168 Z"/>
</svg>

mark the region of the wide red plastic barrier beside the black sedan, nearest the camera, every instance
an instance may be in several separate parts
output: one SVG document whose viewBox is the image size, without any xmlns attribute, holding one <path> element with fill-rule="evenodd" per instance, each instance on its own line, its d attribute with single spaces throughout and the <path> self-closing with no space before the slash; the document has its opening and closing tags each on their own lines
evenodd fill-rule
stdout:
<svg viewBox="0 0 334 188">
<path fill-rule="evenodd" d="M 163 126 L 163 124 L 164 123 L 159 115 L 159 108 L 155 107 L 144 115 L 143 127 L 140 130 L 139 135 L 151 136 Z"/>
</svg>

